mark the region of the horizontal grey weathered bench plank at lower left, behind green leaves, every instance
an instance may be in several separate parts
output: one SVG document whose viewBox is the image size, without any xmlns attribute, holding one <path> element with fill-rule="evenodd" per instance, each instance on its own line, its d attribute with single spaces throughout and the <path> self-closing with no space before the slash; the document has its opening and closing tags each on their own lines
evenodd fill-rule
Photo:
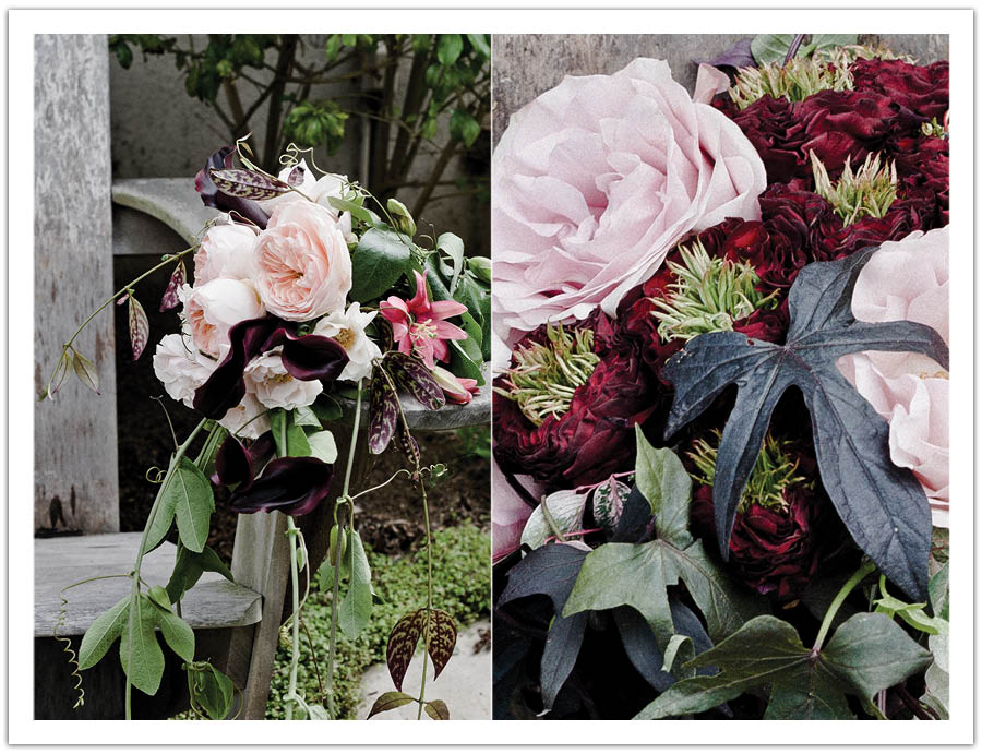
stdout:
<svg viewBox="0 0 982 754">
<path fill-rule="evenodd" d="M 133 569 L 141 532 L 56 537 L 34 542 L 34 635 L 51 636 L 61 611 L 60 590 L 93 576 L 127 574 Z M 143 559 L 141 576 L 164 586 L 177 548 L 165 542 Z M 130 593 L 129 578 L 103 578 L 69 589 L 61 636 L 79 636 L 105 610 Z M 262 617 L 262 597 L 216 573 L 205 573 L 181 601 L 192 629 L 243 626 Z"/>
</svg>

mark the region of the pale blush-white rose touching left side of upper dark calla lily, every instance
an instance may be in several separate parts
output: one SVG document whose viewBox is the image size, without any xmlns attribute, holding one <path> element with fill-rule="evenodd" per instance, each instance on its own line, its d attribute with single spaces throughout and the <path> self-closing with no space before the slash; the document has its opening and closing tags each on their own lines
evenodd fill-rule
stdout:
<svg viewBox="0 0 982 754">
<path fill-rule="evenodd" d="M 251 283 L 218 277 L 203 286 L 183 286 L 178 291 L 194 345 L 203 354 L 221 359 L 228 352 L 228 331 L 243 320 L 264 313 Z"/>
</svg>

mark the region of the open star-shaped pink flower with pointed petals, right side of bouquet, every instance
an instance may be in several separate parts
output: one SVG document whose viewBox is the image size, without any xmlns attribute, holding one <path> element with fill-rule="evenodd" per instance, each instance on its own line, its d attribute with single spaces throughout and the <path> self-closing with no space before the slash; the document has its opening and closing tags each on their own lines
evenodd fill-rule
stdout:
<svg viewBox="0 0 982 754">
<path fill-rule="evenodd" d="M 390 296 L 379 304 L 382 316 L 392 323 L 393 339 L 399 344 L 403 354 L 416 354 L 423 363 L 433 369 L 434 358 L 446 361 L 447 340 L 463 340 L 467 333 L 446 322 L 467 311 L 467 307 L 456 301 L 430 301 L 423 276 L 416 275 L 416 296 L 404 301 L 398 296 Z"/>
</svg>

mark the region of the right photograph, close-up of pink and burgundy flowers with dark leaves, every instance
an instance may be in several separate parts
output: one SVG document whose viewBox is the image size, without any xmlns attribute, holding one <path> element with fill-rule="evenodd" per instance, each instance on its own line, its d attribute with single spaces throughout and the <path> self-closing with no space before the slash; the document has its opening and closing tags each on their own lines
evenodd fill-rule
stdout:
<svg viewBox="0 0 982 754">
<path fill-rule="evenodd" d="M 493 37 L 495 719 L 947 719 L 948 37 L 843 31 Z"/>
</svg>

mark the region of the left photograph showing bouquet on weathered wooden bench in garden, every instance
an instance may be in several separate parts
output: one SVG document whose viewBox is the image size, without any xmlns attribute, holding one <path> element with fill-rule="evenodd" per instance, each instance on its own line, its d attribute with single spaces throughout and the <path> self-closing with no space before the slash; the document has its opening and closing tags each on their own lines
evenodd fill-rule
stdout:
<svg viewBox="0 0 982 754">
<path fill-rule="evenodd" d="M 490 35 L 34 53 L 34 718 L 490 719 Z"/>
</svg>

